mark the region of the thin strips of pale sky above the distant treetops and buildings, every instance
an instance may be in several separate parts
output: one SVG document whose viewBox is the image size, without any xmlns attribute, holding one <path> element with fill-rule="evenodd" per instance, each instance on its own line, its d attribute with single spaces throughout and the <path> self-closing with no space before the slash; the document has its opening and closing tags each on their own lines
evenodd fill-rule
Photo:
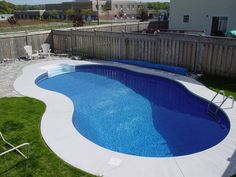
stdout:
<svg viewBox="0 0 236 177">
<path fill-rule="evenodd" d="M 14 4 L 50 4 L 50 3 L 60 3 L 60 2 L 70 2 L 73 0 L 6 0 Z M 140 1 L 140 0 L 138 0 Z M 142 2 L 169 2 L 169 0 L 141 0 Z"/>
</svg>

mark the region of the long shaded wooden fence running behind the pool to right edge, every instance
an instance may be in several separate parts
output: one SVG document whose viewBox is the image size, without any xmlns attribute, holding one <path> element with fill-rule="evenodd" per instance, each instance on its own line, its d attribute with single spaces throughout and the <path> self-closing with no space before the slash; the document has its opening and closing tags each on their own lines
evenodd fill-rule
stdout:
<svg viewBox="0 0 236 177">
<path fill-rule="evenodd" d="M 236 40 L 174 33 L 156 35 L 53 31 L 56 52 L 100 59 L 138 59 L 236 78 Z"/>
</svg>

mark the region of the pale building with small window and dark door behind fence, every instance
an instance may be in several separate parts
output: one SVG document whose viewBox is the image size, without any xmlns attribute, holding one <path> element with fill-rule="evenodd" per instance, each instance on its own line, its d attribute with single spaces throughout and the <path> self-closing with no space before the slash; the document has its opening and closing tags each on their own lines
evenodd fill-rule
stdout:
<svg viewBox="0 0 236 177">
<path fill-rule="evenodd" d="M 170 0 L 169 28 L 222 35 L 236 29 L 236 0 Z"/>
</svg>

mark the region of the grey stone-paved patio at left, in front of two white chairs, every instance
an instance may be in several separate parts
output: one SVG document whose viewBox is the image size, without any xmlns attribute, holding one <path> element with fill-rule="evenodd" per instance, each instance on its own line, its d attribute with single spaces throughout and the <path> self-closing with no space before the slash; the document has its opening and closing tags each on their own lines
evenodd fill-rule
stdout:
<svg viewBox="0 0 236 177">
<path fill-rule="evenodd" d="M 43 61 L 68 59 L 64 57 L 50 57 L 38 60 L 12 60 L 5 63 L 0 63 L 0 98 L 6 96 L 22 96 L 13 88 L 14 81 L 22 74 L 22 69 L 30 64 L 40 63 Z"/>
</svg>

